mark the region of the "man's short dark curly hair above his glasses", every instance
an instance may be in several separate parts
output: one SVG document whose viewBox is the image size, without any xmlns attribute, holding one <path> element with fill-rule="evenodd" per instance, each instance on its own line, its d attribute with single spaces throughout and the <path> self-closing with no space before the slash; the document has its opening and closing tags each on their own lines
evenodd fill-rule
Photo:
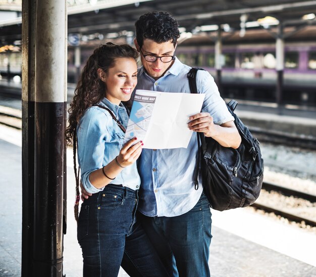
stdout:
<svg viewBox="0 0 316 277">
<path fill-rule="evenodd" d="M 151 12 L 143 14 L 135 22 L 136 40 L 142 48 L 144 39 L 152 39 L 157 43 L 167 42 L 172 39 L 174 46 L 180 37 L 179 25 L 171 14 L 166 12 Z"/>
</svg>

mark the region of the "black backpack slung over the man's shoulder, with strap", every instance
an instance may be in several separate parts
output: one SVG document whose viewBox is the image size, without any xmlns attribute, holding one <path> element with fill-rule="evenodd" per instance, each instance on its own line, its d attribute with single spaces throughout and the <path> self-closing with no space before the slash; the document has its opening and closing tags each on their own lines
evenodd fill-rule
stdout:
<svg viewBox="0 0 316 277">
<path fill-rule="evenodd" d="M 192 68 L 188 73 L 191 93 L 197 93 L 196 73 L 199 69 Z M 204 193 L 210 206 L 219 211 L 251 205 L 259 196 L 264 178 L 259 142 L 234 113 L 236 106 L 235 100 L 227 104 L 241 136 L 238 149 L 223 147 L 203 133 L 197 135 L 199 151 L 194 186 L 197 190 L 198 168 L 201 165 Z"/>
</svg>

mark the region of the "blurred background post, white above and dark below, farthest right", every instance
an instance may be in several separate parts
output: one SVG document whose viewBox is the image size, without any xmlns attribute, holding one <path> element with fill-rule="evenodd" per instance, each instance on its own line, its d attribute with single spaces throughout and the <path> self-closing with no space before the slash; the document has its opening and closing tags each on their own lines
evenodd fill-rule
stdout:
<svg viewBox="0 0 316 277">
<path fill-rule="evenodd" d="M 277 70 L 277 93 L 276 102 L 278 107 L 282 106 L 283 102 L 283 72 L 284 72 L 284 38 L 282 22 L 278 26 L 278 37 L 276 41 L 276 70 Z"/>
</svg>

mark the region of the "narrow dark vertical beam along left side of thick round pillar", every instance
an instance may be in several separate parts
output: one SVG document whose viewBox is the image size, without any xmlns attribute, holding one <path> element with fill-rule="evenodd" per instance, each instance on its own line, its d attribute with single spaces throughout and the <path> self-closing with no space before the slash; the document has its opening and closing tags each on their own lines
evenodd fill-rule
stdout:
<svg viewBox="0 0 316 277">
<path fill-rule="evenodd" d="M 22 1 L 22 277 L 31 276 L 33 270 L 35 7 L 36 0 Z"/>
</svg>

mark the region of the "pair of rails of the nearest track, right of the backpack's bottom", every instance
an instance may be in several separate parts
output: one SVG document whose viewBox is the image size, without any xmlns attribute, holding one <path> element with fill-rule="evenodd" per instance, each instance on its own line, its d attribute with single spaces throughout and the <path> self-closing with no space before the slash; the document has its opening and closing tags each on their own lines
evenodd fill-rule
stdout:
<svg viewBox="0 0 316 277">
<path fill-rule="evenodd" d="M 271 182 L 264 182 L 262 184 L 262 189 L 266 190 L 268 192 L 275 191 L 278 192 L 284 196 L 287 197 L 295 197 L 295 198 L 300 198 L 303 200 L 307 200 L 311 203 L 316 203 L 316 195 L 311 195 L 308 193 L 304 193 L 301 191 L 289 189 L 283 186 L 279 186 L 277 184 L 271 183 Z M 276 207 L 278 206 L 278 207 Z M 306 225 L 310 225 L 312 227 L 316 227 L 316 221 L 312 218 L 307 218 L 304 216 L 299 215 L 299 213 L 293 213 L 293 212 L 288 212 L 282 207 L 282 202 L 277 203 L 276 206 L 272 206 L 269 204 L 261 203 L 260 201 L 254 203 L 251 205 L 251 207 L 254 207 L 259 210 L 263 210 L 265 212 L 272 212 L 276 215 L 279 215 L 281 217 L 287 218 L 290 221 L 295 221 L 298 223 L 301 223 L 302 221 L 305 222 Z M 280 207 L 281 206 L 281 207 Z"/>
</svg>

